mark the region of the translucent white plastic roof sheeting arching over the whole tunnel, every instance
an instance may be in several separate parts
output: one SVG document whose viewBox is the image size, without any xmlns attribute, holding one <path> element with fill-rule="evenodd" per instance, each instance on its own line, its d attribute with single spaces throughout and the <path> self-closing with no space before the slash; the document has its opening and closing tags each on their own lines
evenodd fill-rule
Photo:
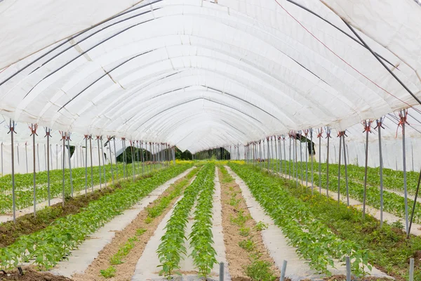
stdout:
<svg viewBox="0 0 421 281">
<path fill-rule="evenodd" d="M 286 0 L 143 1 L 111 20 L 134 3 L 54 1 L 54 13 L 34 13 L 38 2 L 4 0 L 0 113 L 196 152 L 290 130 L 344 130 L 417 104 L 336 13 L 420 97 L 420 6 L 404 0 L 388 20 L 392 0 L 297 2 L 331 24 Z"/>
</svg>

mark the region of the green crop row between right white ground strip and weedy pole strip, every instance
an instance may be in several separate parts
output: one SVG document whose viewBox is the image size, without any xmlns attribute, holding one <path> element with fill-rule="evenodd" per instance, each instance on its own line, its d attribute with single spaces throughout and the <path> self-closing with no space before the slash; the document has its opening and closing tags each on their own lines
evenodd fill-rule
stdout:
<svg viewBox="0 0 421 281">
<path fill-rule="evenodd" d="M 341 240 L 318 221 L 306 204 L 279 185 L 279 178 L 262 174 L 250 165 L 230 163 L 229 166 L 246 182 L 255 199 L 312 269 L 330 275 L 329 267 L 335 266 L 335 259 L 345 261 L 345 256 L 352 259 L 352 271 L 356 275 L 361 275 L 368 266 L 366 250 L 354 242 Z"/>
</svg>

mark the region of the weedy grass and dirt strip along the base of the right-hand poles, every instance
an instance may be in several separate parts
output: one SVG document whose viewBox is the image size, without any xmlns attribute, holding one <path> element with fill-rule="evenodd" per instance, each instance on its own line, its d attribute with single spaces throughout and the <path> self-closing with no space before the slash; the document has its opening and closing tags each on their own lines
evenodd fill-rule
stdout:
<svg viewBox="0 0 421 281">
<path fill-rule="evenodd" d="M 340 238 L 350 240 L 368 250 L 368 262 L 381 268 L 396 280 L 408 280 L 408 260 L 418 259 L 421 249 L 421 237 L 406 239 L 399 223 L 389 225 L 373 216 L 366 216 L 362 221 L 361 209 L 347 207 L 342 202 L 313 192 L 309 188 L 296 188 L 295 181 L 279 178 L 279 185 L 291 195 L 307 204 L 317 219 L 331 228 Z M 421 268 L 415 266 L 414 280 L 421 280 Z M 383 280 L 383 279 L 381 279 Z"/>
</svg>

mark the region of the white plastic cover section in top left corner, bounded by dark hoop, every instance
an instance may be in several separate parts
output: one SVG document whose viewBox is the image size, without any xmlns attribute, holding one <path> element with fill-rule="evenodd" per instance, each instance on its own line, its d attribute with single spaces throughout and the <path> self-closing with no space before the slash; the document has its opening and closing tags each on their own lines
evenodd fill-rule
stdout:
<svg viewBox="0 0 421 281">
<path fill-rule="evenodd" d="M 98 1 L 0 1 L 0 69 L 138 2 L 107 0 L 98 8 Z"/>
</svg>

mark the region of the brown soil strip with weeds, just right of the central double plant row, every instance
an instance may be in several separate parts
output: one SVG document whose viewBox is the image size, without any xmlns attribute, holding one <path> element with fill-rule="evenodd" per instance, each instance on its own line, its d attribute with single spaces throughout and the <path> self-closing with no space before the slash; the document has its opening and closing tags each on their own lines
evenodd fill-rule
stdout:
<svg viewBox="0 0 421 281">
<path fill-rule="evenodd" d="M 241 189 L 235 181 L 225 183 L 222 181 L 222 173 L 218 169 L 221 183 L 221 198 L 222 198 L 222 228 L 224 230 L 224 242 L 227 254 L 229 275 L 233 281 L 249 281 L 250 277 L 246 276 L 244 268 L 250 265 L 250 253 L 245 249 L 239 247 L 239 242 L 248 239 L 255 243 L 255 251 L 258 252 L 260 260 L 269 261 L 272 264 L 272 270 L 276 276 L 280 276 L 278 268 L 276 268 L 274 260 L 269 256 L 269 251 L 265 247 L 260 231 L 255 230 L 256 222 L 250 217 L 250 212 L 247 209 L 246 201 L 241 194 Z M 233 196 L 235 195 L 235 196 Z M 234 205 L 230 204 L 238 202 Z M 236 218 L 240 211 L 243 211 L 243 216 L 247 216 L 248 220 L 245 223 L 245 228 L 250 228 L 250 235 L 248 237 L 240 235 L 240 227 L 232 223 L 231 219 Z"/>
</svg>

